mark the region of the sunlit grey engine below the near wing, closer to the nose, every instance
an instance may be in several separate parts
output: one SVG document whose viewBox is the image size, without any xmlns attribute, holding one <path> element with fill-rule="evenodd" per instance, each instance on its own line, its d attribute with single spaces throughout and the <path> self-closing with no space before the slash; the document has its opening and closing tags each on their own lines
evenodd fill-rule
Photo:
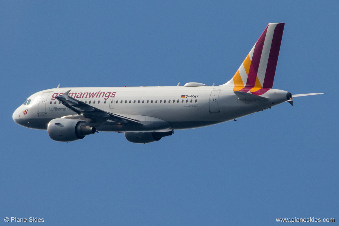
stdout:
<svg viewBox="0 0 339 226">
<path fill-rule="evenodd" d="M 48 135 L 61 142 L 80 140 L 96 131 L 95 127 L 86 126 L 84 122 L 78 119 L 53 119 L 47 126 Z"/>
</svg>

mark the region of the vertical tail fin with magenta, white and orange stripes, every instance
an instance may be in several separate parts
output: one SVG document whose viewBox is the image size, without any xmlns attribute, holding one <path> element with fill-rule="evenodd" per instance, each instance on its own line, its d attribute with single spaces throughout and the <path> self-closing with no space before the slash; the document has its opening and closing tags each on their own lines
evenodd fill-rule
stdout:
<svg viewBox="0 0 339 226">
<path fill-rule="evenodd" d="M 260 95 L 273 86 L 285 23 L 269 23 L 233 78 L 223 85 Z M 264 88 L 264 89 L 261 89 Z"/>
</svg>

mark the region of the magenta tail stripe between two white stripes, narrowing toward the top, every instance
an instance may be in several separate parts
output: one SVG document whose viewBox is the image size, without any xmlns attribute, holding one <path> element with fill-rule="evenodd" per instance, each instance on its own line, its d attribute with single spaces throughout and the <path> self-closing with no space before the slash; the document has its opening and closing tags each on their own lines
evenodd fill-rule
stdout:
<svg viewBox="0 0 339 226">
<path fill-rule="evenodd" d="M 251 60 L 251 67 L 253 65 L 254 70 L 250 69 L 250 71 L 248 73 L 246 87 L 254 87 L 254 85 L 255 85 L 255 80 L 257 78 L 257 73 L 258 73 L 262 48 L 263 48 L 264 42 L 265 42 L 267 28 L 268 28 L 268 25 L 267 25 L 266 29 L 264 30 L 264 32 L 261 34 L 260 38 L 258 39 L 258 41 L 255 45 L 252 60 Z M 254 83 L 253 83 L 253 81 L 254 81 Z"/>
</svg>

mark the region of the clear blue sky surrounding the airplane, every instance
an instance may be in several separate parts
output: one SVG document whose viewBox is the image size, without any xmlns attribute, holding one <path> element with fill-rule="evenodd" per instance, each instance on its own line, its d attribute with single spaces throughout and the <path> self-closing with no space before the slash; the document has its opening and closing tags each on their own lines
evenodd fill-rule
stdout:
<svg viewBox="0 0 339 226">
<path fill-rule="evenodd" d="M 48 225 L 339 221 L 337 1 L 1 1 L 0 219 Z M 285 22 L 273 88 L 325 93 L 150 144 L 60 143 L 12 120 L 28 96 L 83 86 L 223 84 Z M 9 224 L 9 223 L 7 223 Z"/>
</svg>

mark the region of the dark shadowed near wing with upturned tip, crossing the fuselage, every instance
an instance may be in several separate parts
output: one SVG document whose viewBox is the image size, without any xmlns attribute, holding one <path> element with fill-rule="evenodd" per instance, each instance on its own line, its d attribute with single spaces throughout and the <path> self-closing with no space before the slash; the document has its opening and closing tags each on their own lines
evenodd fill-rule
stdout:
<svg viewBox="0 0 339 226">
<path fill-rule="evenodd" d="M 63 105 L 65 105 L 67 108 L 76 112 L 81 117 L 90 119 L 92 123 L 103 123 L 107 120 L 112 120 L 122 124 L 131 122 L 141 124 L 140 121 L 136 119 L 131 119 L 120 116 L 118 114 L 113 114 L 111 112 L 101 110 L 99 108 L 88 105 L 82 101 L 79 101 L 73 97 L 70 97 L 68 95 L 69 91 L 71 91 L 71 89 L 64 94 L 57 96 L 56 99 L 60 101 Z"/>
</svg>

